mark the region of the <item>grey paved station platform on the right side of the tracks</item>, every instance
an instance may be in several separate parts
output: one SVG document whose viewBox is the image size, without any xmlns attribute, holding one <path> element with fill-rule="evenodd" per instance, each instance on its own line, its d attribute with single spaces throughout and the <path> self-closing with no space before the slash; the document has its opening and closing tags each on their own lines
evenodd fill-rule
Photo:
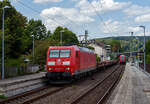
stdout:
<svg viewBox="0 0 150 104">
<path fill-rule="evenodd" d="M 127 63 L 122 79 L 106 104 L 150 104 L 149 74 Z"/>
</svg>

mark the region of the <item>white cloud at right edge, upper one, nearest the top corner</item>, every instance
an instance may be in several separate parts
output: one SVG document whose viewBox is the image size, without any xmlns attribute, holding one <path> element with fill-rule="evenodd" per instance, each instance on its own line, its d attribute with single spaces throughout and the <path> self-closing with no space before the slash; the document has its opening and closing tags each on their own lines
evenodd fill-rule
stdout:
<svg viewBox="0 0 150 104">
<path fill-rule="evenodd" d="M 123 12 L 128 14 L 129 16 L 142 15 L 142 14 L 150 13 L 150 7 L 132 5 L 131 7 L 125 9 Z"/>
</svg>

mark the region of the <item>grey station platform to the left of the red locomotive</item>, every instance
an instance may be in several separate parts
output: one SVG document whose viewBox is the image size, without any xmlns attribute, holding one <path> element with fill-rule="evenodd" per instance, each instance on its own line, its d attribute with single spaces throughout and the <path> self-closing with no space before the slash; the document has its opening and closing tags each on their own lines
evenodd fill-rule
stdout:
<svg viewBox="0 0 150 104">
<path fill-rule="evenodd" d="M 0 80 L 0 95 L 7 97 L 20 94 L 44 85 L 46 72 Z"/>
</svg>

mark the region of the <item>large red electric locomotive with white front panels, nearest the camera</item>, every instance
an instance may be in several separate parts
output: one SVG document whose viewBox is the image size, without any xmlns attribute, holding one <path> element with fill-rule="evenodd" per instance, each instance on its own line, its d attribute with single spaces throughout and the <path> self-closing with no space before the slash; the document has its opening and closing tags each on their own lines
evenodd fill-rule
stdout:
<svg viewBox="0 0 150 104">
<path fill-rule="evenodd" d="M 96 54 L 87 48 L 52 46 L 47 52 L 46 77 L 50 82 L 67 82 L 96 69 Z"/>
</svg>

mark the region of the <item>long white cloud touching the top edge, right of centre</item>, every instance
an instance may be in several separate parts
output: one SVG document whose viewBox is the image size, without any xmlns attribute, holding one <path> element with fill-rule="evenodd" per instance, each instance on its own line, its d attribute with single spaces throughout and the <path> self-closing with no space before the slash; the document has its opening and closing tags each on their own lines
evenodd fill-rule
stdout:
<svg viewBox="0 0 150 104">
<path fill-rule="evenodd" d="M 104 13 L 123 9 L 130 5 L 130 2 L 114 2 L 114 0 L 80 0 L 76 7 L 80 8 L 80 12 L 88 15 L 96 15 L 96 12 Z"/>
</svg>

